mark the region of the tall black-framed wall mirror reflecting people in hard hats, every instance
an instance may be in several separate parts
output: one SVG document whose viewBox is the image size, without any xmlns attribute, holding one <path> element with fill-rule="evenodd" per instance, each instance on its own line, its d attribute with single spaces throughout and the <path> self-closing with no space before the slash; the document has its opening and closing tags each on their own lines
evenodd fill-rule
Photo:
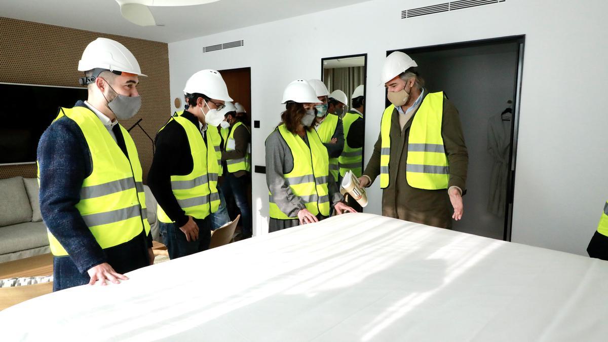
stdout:
<svg viewBox="0 0 608 342">
<path fill-rule="evenodd" d="M 349 170 L 356 177 L 360 177 L 363 171 L 364 85 L 367 75 L 367 54 L 323 58 L 321 63 L 323 83 L 330 92 L 330 96 L 328 96 L 328 115 L 317 119 L 317 122 L 327 120 L 328 117 L 330 120 L 335 118 L 337 135 L 342 135 L 342 138 L 337 138 L 335 139 L 337 142 L 333 142 L 329 134 L 323 134 L 323 130 L 320 130 L 319 136 L 330 152 L 330 173 L 333 173 L 336 181 L 341 183 Z M 341 127 L 339 127 L 340 124 Z M 340 129 L 343 134 L 339 134 Z M 342 139 L 344 139 L 342 151 L 335 152 L 336 148 L 333 148 L 333 144 L 342 144 Z M 332 165 L 337 165 L 337 167 L 331 170 Z M 352 208 L 359 212 L 362 211 L 361 206 L 348 195 L 346 201 Z"/>
</svg>

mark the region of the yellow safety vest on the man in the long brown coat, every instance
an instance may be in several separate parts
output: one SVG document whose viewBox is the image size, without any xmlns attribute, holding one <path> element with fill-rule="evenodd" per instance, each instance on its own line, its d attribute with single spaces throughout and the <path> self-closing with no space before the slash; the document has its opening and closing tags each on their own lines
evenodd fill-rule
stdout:
<svg viewBox="0 0 608 342">
<path fill-rule="evenodd" d="M 407 142 L 406 178 L 418 189 L 447 189 L 449 163 L 441 138 L 443 92 L 428 94 L 416 112 Z M 381 122 L 380 187 L 389 186 L 390 125 L 395 106 L 384 110 Z"/>
</svg>

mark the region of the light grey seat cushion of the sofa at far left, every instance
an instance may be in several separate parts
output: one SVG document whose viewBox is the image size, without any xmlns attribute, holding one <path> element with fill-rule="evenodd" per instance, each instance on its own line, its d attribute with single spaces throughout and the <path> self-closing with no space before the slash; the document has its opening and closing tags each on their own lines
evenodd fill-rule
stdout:
<svg viewBox="0 0 608 342">
<path fill-rule="evenodd" d="M 0 254 L 49 245 L 43 222 L 26 222 L 0 227 Z"/>
</svg>

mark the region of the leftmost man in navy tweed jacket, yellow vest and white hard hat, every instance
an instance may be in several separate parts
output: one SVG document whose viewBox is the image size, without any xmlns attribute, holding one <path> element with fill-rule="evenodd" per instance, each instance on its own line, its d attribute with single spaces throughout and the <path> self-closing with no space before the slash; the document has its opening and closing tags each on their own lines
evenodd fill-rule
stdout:
<svg viewBox="0 0 608 342">
<path fill-rule="evenodd" d="M 78 62 L 88 99 L 60 108 L 38 144 L 40 211 L 54 255 L 53 290 L 116 284 L 154 260 L 142 167 L 117 119 L 141 105 L 139 63 L 117 41 L 97 38 Z"/>
</svg>

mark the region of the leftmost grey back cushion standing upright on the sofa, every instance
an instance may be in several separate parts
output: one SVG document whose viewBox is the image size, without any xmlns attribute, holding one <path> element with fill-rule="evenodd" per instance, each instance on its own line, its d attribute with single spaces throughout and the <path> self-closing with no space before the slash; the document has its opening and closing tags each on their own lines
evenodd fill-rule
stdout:
<svg viewBox="0 0 608 342">
<path fill-rule="evenodd" d="M 0 227 L 32 221 L 32 206 L 23 177 L 0 180 Z"/>
</svg>

